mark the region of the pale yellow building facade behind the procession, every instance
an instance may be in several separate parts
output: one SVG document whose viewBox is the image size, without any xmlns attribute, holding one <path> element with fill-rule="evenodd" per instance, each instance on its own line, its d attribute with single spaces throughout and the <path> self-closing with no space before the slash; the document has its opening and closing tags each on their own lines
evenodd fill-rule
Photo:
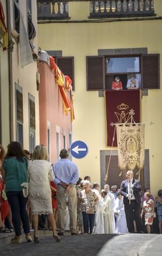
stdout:
<svg viewBox="0 0 162 256">
<path fill-rule="evenodd" d="M 161 1 L 37 1 L 37 8 L 39 46 L 55 51 L 62 62 L 74 59 L 70 69 L 75 78 L 73 140 L 83 140 L 88 146 L 85 158 L 74 159 L 80 176 L 90 175 L 103 186 L 111 150 L 107 147 L 104 90 L 110 89 L 115 74 L 123 77 L 124 84 L 133 73 L 141 86 L 141 122 L 154 123 L 145 126 L 143 187 L 149 186 L 156 195 L 161 188 Z M 118 64 L 120 58 L 135 58 L 139 69 L 129 66 L 108 74 L 112 58 Z M 111 185 L 124 178 L 119 177 L 116 148 L 110 170 L 114 170 L 111 177 L 116 175 L 108 180 Z"/>
</svg>

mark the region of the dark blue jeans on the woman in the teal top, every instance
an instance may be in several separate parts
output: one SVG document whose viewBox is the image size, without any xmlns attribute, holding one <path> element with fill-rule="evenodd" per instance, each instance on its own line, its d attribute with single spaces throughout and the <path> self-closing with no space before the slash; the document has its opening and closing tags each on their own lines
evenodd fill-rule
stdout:
<svg viewBox="0 0 162 256">
<path fill-rule="evenodd" d="M 11 206 L 15 235 L 21 235 L 21 221 L 24 233 L 30 233 L 29 218 L 26 210 L 27 198 L 23 196 L 22 191 L 7 191 L 6 196 Z"/>
</svg>

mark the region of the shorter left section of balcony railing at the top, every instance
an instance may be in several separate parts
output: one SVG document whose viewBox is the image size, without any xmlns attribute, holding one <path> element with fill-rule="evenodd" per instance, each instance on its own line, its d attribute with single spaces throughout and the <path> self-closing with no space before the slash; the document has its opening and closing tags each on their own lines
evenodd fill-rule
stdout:
<svg viewBox="0 0 162 256">
<path fill-rule="evenodd" d="M 37 1 L 38 20 L 68 19 L 68 2 Z"/>
</svg>

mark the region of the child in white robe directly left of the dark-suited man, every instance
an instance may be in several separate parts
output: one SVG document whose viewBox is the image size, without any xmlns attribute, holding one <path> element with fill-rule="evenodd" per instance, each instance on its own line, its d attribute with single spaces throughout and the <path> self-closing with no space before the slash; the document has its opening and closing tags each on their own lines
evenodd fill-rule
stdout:
<svg viewBox="0 0 162 256">
<path fill-rule="evenodd" d="M 117 192 L 117 198 L 115 200 L 115 214 L 116 214 L 116 233 L 124 234 L 128 233 L 124 204 L 123 204 L 123 196 L 120 192 Z"/>
</svg>

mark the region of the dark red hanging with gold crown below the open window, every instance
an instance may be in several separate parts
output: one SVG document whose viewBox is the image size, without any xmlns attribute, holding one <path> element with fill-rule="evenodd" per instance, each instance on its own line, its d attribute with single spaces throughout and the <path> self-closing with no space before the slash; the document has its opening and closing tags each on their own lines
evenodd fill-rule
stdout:
<svg viewBox="0 0 162 256">
<path fill-rule="evenodd" d="M 140 123 L 140 90 L 106 91 L 107 146 L 112 146 L 115 126 L 111 123 Z M 115 134 L 114 147 L 117 147 Z"/>
</svg>

